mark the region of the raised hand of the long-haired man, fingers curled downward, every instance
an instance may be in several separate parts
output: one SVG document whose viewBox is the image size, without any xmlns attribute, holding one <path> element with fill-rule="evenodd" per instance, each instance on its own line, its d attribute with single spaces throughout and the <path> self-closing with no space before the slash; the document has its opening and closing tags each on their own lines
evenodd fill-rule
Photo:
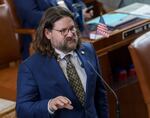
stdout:
<svg viewBox="0 0 150 118">
<path fill-rule="evenodd" d="M 49 109 L 51 111 L 56 111 L 58 109 L 73 109 L 73 106 L 71 105 L 71 101 L 64 96 L 58 96 L 56 98 L 51 99 L 51 101 L 49 102 Z"/>
</svg>

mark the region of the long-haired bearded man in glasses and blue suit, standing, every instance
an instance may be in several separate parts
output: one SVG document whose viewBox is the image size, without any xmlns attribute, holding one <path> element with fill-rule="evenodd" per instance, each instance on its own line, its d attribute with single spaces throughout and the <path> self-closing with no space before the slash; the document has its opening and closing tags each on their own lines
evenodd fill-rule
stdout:
<svg viewBox="0 0 150 118">
<path fill-rule="evenodd" d="M 106 90 L 95 73 L 100 72 L 95 50 L 80 42 L 70 11 L 49 8 L 33 46 L 35 54 L 19 67 L 18 118 L 108 118 Z"/>
</svg>

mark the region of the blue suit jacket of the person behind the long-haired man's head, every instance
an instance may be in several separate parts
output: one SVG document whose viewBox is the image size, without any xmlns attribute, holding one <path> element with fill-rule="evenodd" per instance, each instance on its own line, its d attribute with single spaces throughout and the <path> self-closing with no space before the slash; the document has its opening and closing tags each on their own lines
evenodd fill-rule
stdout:
<svg viewBox="0 0 150 118">
<path fill-rule="evenodd" d="M 36 28 L 43 12 L 48 7 L 57 6 L 56 1 L 57 0 L 14 0 L 14 3 L 23 27 Z M 82 0 L 65 0 L 65 3 L 72 12 L 75 12 L 72 7 L 73 3 L 80 3 L 85 7 Z"/>
</svg>

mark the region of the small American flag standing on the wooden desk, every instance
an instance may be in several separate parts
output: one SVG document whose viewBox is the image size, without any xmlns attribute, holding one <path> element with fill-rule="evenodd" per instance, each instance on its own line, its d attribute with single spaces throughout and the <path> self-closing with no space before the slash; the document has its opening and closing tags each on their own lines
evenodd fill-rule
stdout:
<svg viewBox="0 0 150 118">
<path fill-rule="evenodd" d="M 103 16 L 100 16 L 99 24 L 97 25 L 96 33 L 100 34 L 104 37 L 109 37 L 109 30 L 108 30 L 107 25 L 105 24 Z"/>
</svg>

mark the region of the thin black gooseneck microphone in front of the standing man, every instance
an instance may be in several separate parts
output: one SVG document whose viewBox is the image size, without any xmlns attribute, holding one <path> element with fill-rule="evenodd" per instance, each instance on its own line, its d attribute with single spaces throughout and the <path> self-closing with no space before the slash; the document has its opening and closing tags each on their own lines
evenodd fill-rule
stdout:
<svg viewBox="0 0 150 118">
<path fill-rule="evenodd" d="M 94 72 L 97 74 L 97 76 L 102 80 L 102 82 L 104 83 L 104 85 L 108 88 L 108 90 L 110 92 L 112 92 L 112 94 L 115 97 L 116 100 L 116 118 L 120 118 L 120 103 L 119 103 L 119 99 L 117 94 L 115 93 L 115 91 L 107 84 L 107 82 L 104 80 L 104 78 L 99 74 L 99 72 L 97 72 L 97 70 L 94 68 L 94 66 L 92 65 L 92 63 L 87 60 L 88 64 L 92 67 L 92 69 L 94 70 Z"/>
</svg>

